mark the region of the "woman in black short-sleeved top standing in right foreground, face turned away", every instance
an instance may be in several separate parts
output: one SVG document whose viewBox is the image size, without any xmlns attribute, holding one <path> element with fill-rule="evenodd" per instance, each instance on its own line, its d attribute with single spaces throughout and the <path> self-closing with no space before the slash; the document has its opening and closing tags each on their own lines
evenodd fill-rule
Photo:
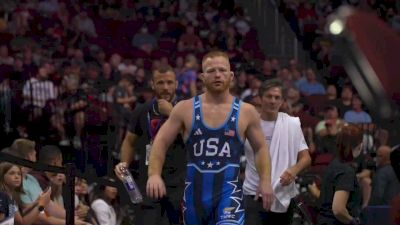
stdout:
<svg viewBox="0 0 400 225">
<path fill-rule="evenodd" d="M 361 142 L 362 130 L 357 126 L 345 125 L 338 133 L 337 158 L 326 169 L 319 194 L 319 225 L 359 224 L 362 197 L 351 163 Z"/>
</svg>

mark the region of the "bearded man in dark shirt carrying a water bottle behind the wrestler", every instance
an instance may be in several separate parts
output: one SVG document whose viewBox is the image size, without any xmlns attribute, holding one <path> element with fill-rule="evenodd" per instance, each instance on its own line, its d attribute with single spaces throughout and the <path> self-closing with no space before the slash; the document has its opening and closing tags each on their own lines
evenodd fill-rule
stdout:
<svg viewBox="0 0 400 225">
<path fill-rule="evenodd" d="M 147 180 L 151 145 L 177 102 L 175 96 L 177 85 L 175 73 L 171 67 L 160 68 L 153 72 L 152 88 L 155 98 L 135 109 L 122 143 L 121 162 L 115 166 L 115 173 L 122 180 L 123 170 L 129 167 L 135 156 L 138 156 L 139 175 L 136 181 L 142 193 L 144 193 Z M 135 208 L 136 225 L 180 224 L 179 205 L 183 196 L 185 177 L 183 146 L 182 138 L 177 138 L 166 156 L 162 176 L 167 181 L 168 195 L 158 200 L 144 197 L 143 203 Z"/>
</svg>

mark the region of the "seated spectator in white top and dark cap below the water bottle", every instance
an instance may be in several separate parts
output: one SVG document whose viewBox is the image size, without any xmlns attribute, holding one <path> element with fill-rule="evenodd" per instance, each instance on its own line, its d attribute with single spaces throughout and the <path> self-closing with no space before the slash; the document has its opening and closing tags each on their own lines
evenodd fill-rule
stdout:
<svg viewBox="0 0 400 225">
<path fill-rule="evenodd" d="M 91 208 L 96 214 L 99 225 L 116 225 L 117 188 L 100 184 L 96 189 Z"/>
</svg>

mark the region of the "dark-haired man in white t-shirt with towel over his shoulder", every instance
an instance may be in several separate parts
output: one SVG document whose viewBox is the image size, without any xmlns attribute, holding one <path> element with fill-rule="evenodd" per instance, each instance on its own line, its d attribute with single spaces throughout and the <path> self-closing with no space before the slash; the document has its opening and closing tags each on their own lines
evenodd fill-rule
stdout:
<svg viewBox="0 0 400 225">
<path fill-rule="evenodd" d="M 254 162 L 254 152 L 245 144 L 247 159 L 243 184 L 246 224 L 290 224 L 288 211 L 291 199 L 298 194 L 295 177 L 311 164 L 308 146 L 297 117 L 279 112 L 283 103 L 283 86 L 277 79 L 264 82 L 259 90 L 261 97 L 261 127 L 270 148 L 271 183 L 274 202 L 265 211 L 257 201 L 259 177 Z"/>
</svg>

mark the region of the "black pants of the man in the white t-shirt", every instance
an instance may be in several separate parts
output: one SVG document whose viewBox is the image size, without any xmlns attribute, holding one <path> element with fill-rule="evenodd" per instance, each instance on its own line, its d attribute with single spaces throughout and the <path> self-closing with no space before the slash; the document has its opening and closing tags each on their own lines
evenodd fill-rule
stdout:
<svg viewBox="0 0 400 225">
<path fill-rule="evenodd" d="M 262 199 L 254 200 L 254 196 L 244 196 L 246 225 L 290 225 L 293 212 L 289 207 L 285 213 L 267 212 L 262 206 Z"/>
</svg>

